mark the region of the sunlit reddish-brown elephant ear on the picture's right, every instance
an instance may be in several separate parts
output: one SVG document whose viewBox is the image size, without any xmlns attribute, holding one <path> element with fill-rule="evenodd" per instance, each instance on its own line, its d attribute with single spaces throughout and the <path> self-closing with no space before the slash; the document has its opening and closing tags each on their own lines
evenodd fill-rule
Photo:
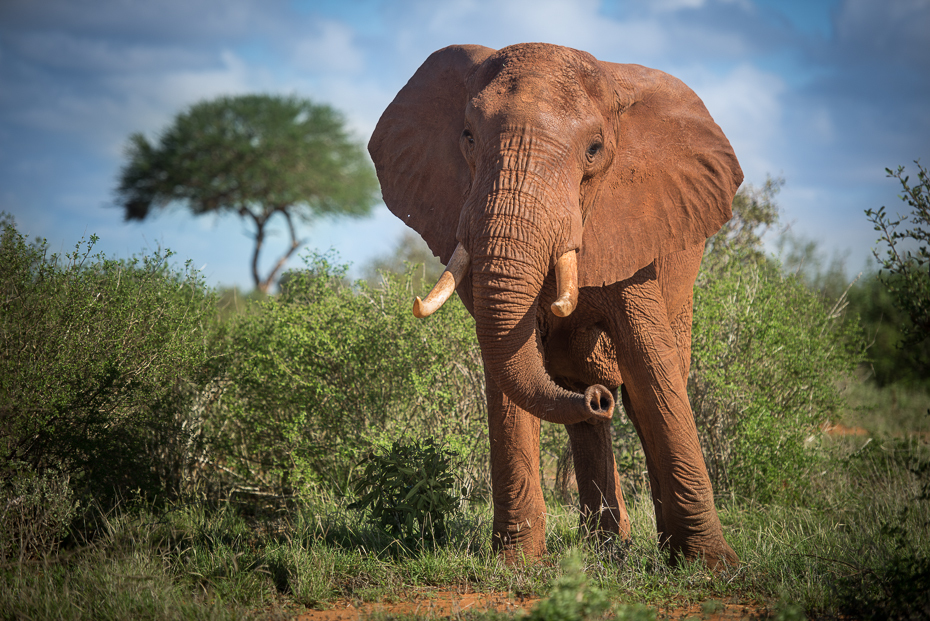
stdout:
<svg viewBox="0 0 930 621">
<path fill-rule="evenodd" d="M 589 207 L 581 286 L 625 280 L 703 243 L 731 217 L 743 181 L 723 131 L 694 92 L 639 65 L 601 62 L 617 87 L 617 151 Z"/>
</svg>

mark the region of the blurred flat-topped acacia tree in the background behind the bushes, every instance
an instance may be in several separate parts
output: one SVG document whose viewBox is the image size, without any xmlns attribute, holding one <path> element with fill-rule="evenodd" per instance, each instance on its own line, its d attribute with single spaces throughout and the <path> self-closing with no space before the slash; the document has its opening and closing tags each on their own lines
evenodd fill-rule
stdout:
<svg viewBox="0 0 930 621">
<path fill-rule="evenodd" d="M 368 215 L 378 181 L 361 144 L 327 105 L 296 97 L 221 97 L 175 117 L 152 145 L 129 139 L 117 202 L 127 220 L 184 204 L 195 215 L 232 212 L 254 225 L 252 278 L 267 292 L 303 241 L 295 219 Z M 275 216 L 287 223 L 290 246 L 264 277 L 258 258 Z"/>
</svg>

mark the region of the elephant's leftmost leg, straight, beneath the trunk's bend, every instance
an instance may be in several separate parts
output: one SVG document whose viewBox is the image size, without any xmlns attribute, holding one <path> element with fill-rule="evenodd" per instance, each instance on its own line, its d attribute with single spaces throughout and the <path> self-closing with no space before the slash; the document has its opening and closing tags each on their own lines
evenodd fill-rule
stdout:
<svg viewBox="0 0 930 621">
<path fill-rule="evenodd" d="M 539 480 L 540 420 L 517 407 L 485 373 L 494 499 L 492 547 L 507 564 L 546 554 L 546 504 Z"/>
</svg>

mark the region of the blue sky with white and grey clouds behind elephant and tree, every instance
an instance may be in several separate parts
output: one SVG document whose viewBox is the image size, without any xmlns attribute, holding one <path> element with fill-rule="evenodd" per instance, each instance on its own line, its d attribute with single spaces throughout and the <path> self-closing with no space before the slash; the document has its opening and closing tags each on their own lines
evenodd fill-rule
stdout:
<svg viewBox="0 0 930 621">
<path fill-rule="evenodd" d="M 431 52 L 523 41 L 684 80 L 746 182 L 784 177 L 784 222 L 850 271 L 876 238 L 863 210 L 903 205 L 884 169 L 930 164 L 930 0 L 0 0 L 0 211 L 54 251 L 90 234 L 110 256 L 167 247 L 209 283 L 250 289 L 236 217 L 123 222 L 129 134 L 155 140 L 197 101 L 260 92 L 331 104 L 367 142 Z M 358 273 L 403 228 L 379 205 L 302 236 Z M 281 230 L 266 264 L 284 243 Z"/>
</svg>

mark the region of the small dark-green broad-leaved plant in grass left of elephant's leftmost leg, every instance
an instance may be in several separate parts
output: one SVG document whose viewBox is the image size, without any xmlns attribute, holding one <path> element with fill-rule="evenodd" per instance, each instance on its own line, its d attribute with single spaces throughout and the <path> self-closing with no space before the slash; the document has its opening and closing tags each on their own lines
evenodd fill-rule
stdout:
<svg viewBox="0 0 930 621">
<path fill-rule="evenodd" d="M 454 454 L 432 440 L 394 442 L 387 453 L 371 452 L 355 485 L 352 509 L 370 509 L 371 519 L 403 543 L 442 541 L 446 518 L 459 506 L 452 493 Z"/>
</svg>

